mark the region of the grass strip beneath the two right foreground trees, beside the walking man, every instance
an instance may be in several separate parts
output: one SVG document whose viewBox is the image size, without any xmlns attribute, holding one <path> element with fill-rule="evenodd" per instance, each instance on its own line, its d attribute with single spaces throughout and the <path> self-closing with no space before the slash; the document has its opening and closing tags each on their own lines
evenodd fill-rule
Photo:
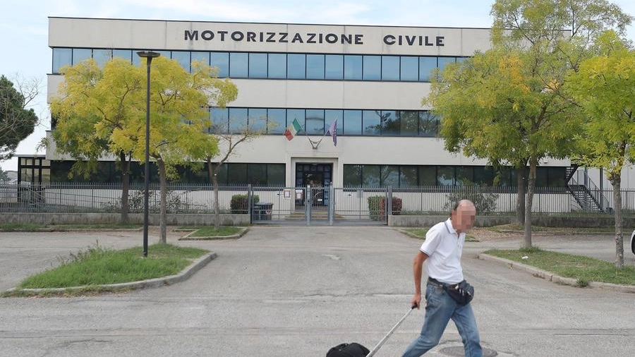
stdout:
<svg viewBox="0 0 635 357">
<path fill-rule="evenodd" d="M 483 253 L 531 265 L 561 277 L 576 279 L 578 286 L 586 286 L 588 282 L 635 285 L 635 266 L 629 265 L 618 270 L 612 262 L 605 260 L 551 252 L 537 247 L 494 249 Z"/>
</svg>

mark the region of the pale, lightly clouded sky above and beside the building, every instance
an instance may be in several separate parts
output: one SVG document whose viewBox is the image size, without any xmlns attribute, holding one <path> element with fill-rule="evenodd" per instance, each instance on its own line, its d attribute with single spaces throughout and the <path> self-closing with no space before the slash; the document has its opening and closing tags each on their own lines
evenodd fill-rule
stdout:
<svg viewBox="0 0 635 357">
<path fill-rule="evenodd" d="M 236 21 L 261 23 L 315 23 L 336 25 L 399 25 L 450 28 L 489 28 L 494 0 L 30 0 L 3 1 L 0 11 L 0 74 L 15 82 L 40 80 L 40 95 L 32 108 L 40 125 L 16 150 L 36 152 L 50 128 L 46 100 L 47 73 L 52 52 L 48 47 L 49 16 L 132 18 L 150 20 Z M 613 0 L 635 16 L 634 0 Z M 627 37 L 635 41 L 635 26 Z M 5 170 L 18 169 L 13 159 L 0 162 Z"/>
</svg>

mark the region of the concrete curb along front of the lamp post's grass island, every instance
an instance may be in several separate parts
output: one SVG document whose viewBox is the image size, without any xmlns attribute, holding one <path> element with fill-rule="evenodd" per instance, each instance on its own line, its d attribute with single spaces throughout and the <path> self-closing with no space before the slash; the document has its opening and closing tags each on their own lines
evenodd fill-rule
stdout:
<svg viewBox="0 0 635 357">
<path fill-rule="evenodd" d="M 7 291 L 25 291 L 30 293 L 64 293 L 67 291 L 75 291 L 75 290 L 83 290 L 87 288 L 104 288 L 104 289 L 145 289 L 145 288 L 156 288 L 164 285 L 176 284 L 179 282 L 183 282 L 184 280 L 191 277 L 195 272 L 198 272 L 202 267 L 205 267 L 208 262 L 211 262 L 214 258 L 217 257 L 217 254 L 214 252 L 207 253 L 203 255 L 201 258 L 193 261 L 188 267 L 183 269 L 179 274 L 169 275 L 167 277 L 160 277 L 155 279 L 147 279 L 147 280 L 139 280 L 138 282 L 127 282 L 127 283 L 118 283 L 118 284 L 103 284 L 103 285 L 85 285 L 85 286 L 71 286 L 68 288 L 47 288 L 47 289 L 8 289 Z"/>
</svg>

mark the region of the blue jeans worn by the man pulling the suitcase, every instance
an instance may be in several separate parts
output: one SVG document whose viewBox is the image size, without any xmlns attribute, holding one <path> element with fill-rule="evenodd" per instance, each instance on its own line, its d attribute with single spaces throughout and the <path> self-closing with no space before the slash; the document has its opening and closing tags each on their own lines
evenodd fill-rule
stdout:
<svg viewBox="0 0 635 357">
<path fill-rule="evenodd" d="M 435 284 L 428 284 L 425 288 L 425 300 L 427 303 L 421 335 L 412 341 L 403 357 L 419 357 L 437 346 L 450 319 L 454 321 L 456 329 L 459 330 L 465 347 L 465 356 L 483 357 L 476 318 L 471 304 L 468 303 L 464 306 L 457 304 L 442 286 Z"/>
</svg>

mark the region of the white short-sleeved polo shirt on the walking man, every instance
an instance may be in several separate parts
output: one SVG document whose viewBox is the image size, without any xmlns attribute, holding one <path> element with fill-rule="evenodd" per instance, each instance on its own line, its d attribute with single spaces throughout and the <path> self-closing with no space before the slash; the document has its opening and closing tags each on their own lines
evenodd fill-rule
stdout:
<svg viewBox="0 0 635 357">
<path fill-rule="evenodd" d="M 419 248 L 428 255 L 428 259 L 425 260 L 428 276 L 447 284 L 461 282 L 461 253 L 464 243 L 465 233 L 457 234 L 450 219 L 430 228 Z"/>
</svg>

